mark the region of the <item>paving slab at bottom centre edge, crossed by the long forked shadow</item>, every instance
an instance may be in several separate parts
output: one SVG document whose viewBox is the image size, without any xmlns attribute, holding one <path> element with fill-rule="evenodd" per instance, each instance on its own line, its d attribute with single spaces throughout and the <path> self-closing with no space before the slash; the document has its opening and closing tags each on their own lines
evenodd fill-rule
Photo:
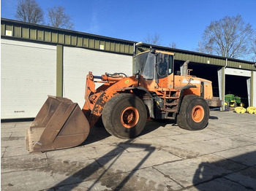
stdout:
<svg viewBox="0 0 256 191">
<path fill-rule="evenodd" d="M 78 182 L 56 190 L 181 190 L 181 186 L 159 173 L 154 168 L 145 168 L 129 173 L 115 174 L 108 169 L 108 174 L 103 174 L 94 181 Z"/>
</svg>

